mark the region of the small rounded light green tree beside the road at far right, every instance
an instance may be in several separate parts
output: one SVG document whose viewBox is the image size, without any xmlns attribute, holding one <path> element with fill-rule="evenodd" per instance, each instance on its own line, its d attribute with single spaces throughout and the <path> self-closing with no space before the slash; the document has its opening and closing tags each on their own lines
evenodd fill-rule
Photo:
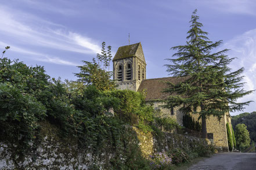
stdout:
<svg viewBox="0 0 256 170">
<path fill-rule="evenodd" d="M 236 145 L 240 150 L 250 146 L 250 136 L 245 124 L 237 124 L 235 128 Z"/>
</svg>

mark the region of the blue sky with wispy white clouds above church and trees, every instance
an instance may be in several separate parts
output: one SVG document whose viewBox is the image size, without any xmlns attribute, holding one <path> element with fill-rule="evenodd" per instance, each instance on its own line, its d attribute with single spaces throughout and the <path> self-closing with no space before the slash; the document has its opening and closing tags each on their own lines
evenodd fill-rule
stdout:
<svg viewBox="0 0 256 170">
<path fill-rule="evenodd" d="M 165 64 L 185 45 L 194 9 L 217 50 L 230 49 L 233 71 L 244 67 L 245 90 L 256 89 L 256 2 L 254 0 L 9 0 L 0 3 L 0 49 L 5 57 L 42 65 L 51 77 L 76 80 L 81 61 L 92 61 L 102 42 L 118 47 L 142 43 L 147 79 L 170 76 Z M 129 39 L 128 39 L 129 35 Z M 238 102 L 254 101 L 256 93 Z M 241 112 L 256 111 L 256 102 Z"/>
</svg>

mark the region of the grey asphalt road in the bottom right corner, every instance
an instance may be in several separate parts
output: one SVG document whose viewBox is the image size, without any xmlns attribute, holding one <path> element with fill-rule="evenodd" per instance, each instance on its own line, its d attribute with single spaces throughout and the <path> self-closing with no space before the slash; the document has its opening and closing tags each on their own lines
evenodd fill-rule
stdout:
<svg viewBox="0 0 256 170">
<path fill-rule="evenodd" d="M 239 169 L 256 170 L 256 153 L 217 153 L 210 158 L 197 162 L 188 169 L 190 170 L 228 170 Z"/>
</svg>

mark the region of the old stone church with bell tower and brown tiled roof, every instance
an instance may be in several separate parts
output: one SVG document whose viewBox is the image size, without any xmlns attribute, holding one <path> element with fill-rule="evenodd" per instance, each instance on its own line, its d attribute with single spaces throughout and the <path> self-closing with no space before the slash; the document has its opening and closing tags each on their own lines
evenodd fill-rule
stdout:
<svg viewBox="0 0 256 170">
<path fill-rule="evenodd" d="M 182 125 L 183 113 L 178 107 L 165 109 L 161 107 L 168 94 L 162 93 L 167 84 L 164 82 L 177 83 L 181 81 L 176 77 L 160 77 L 156 79 L 146 79 L 146 60 L 143 54 L 141 43 L 121 46 L 118 48 L 113 58 L 113 79 L 117 82 L 117 88 L 133 91 L 146 91 L 146 102 L 153 104 L 155 109 L 161 110 L 161 116 L 172 117 L 177 123 Z M 195 120 L 198 115 L 192 114 Z M 210 116 L 207 119 L 207 132 L 213 136 L 213 142 L 223 151 L 228 150 L 228 137 L 226 123 L 231 126 L 229 113 L 222 116 L 221 120 Z"/>
</svg>

